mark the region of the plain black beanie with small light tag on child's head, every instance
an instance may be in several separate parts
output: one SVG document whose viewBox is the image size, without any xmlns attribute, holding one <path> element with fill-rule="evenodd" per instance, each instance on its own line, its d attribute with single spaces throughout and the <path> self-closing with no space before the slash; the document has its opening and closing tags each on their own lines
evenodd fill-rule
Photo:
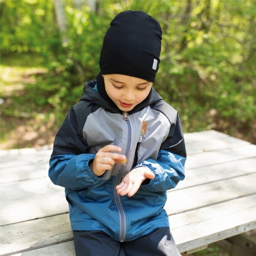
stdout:
<svg viewBox="0 0 256 256">
<path fill-rule="evenodd" d="M 154 82 L 161 52 L 159 22 L 142 11 L 125 11 L 110 25 L 100 54 L 101 73 Z"/>
</svg>

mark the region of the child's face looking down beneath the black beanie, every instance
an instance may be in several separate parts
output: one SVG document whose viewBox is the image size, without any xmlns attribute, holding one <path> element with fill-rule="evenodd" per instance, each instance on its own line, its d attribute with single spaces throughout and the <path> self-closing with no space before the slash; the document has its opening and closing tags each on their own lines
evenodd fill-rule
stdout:
<svg viewBox="0 0 256 256">
<path fill-rule="evenodd" d="M 119 74 L 103 75 L 106 93 L 122 111 L 131 111 L 146 99 L 152 82 Z"/>
</svg>

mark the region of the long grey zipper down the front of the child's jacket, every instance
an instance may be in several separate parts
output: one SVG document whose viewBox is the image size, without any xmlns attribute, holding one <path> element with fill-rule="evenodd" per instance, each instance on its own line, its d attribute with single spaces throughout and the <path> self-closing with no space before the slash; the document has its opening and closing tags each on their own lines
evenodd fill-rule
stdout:
<svg viewBox="0 0 256 256">
<path fill-rule="evenodd" d="M 128 127 L 128 143 L 127 143 L 127 148 L 126 148 L 126 151 L 125 151 L 125 156 L 128 158 L 129 150 L 131 148 L 131 141 L 132 141 L 132 125 L 131 125 L 131 122 L 129 120 L 127 112 L 125 112 L 125 111 L 123 112 L 123 117 L 124 117 L 124 120 L 127 121 L 127 127 Z M 123 166 L 121 168 L 119 174 L 117 175 L 117 178 L 115 179 L 115 187 L 118 184 L 120 184 L 120 182 L 122 180 L 122 174 L 123 174 L 124 168 L 125 168 L 125 166 Z M 120 195 L 117 193 L 117 190 L 115 190 L 114 198 L 115 198 L 115 203 L 117 204 L 117 208 L 118 208 L 119 216 L 120 216 L 120 235 L 119 235 L 119 239 L 120 239 L 120 242 L 123 242 L 125 240 L 125 236 L 126 236 L 127 225 L 126 225 L 125 212 L 124 212 L 121 200 L 120 200 Z"/>
</svg>

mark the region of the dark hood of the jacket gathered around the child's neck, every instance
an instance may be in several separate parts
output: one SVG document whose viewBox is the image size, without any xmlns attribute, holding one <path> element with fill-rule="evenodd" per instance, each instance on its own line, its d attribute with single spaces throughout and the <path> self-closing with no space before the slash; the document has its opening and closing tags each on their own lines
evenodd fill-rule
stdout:
<svg viewBox="0 0 256 256">
<path fill-rule="evenodd" d="M 97 92 L 94 87 L 97 84 L 96 80 L 88 81 L 83 86 L 83 93 L 81 95 L 80 101 L 86 100 L 91 101 L 91 103 L 99 106 L 100 108 L 104 108 L 106 111 L 111 113 L 119 113 L 122 114 L 123 111 L 118 109 L 117 105 L 113 103 L 113 101 L 109 97 L 103 97 L 99 92 Z M 147 98 L 135 106 L 129 114 L 136 113 L 148 105 L 153 105 L 162 100 L 162 97 L 155 91 L 155 89 L 151 89 L 150 94 L 148 94 Z"/>
</svg>

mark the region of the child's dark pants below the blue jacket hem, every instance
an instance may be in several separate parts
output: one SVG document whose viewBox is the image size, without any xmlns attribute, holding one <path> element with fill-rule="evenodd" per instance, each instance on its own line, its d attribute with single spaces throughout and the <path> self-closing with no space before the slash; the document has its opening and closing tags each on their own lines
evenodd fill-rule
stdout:
<svg viewBox="0 0 256 256">
<path fill-rule="evenodd" d="M 102 231 L 73 231 L 76 256 L 180 256 L 168 227 L 120 243 Z"/>
</svg>

